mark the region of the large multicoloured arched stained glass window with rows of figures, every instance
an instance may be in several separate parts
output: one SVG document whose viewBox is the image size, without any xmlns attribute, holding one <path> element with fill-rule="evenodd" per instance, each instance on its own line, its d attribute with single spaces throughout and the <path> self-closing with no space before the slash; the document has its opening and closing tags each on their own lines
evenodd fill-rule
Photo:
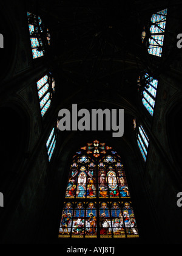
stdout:
<svg viewBox="0 0 182 256">
<path fill-rule="evenodd" d="M 73 157 L 59 238 L 139 237 L 123 161 L 94 141 Z"/>
</svg>

